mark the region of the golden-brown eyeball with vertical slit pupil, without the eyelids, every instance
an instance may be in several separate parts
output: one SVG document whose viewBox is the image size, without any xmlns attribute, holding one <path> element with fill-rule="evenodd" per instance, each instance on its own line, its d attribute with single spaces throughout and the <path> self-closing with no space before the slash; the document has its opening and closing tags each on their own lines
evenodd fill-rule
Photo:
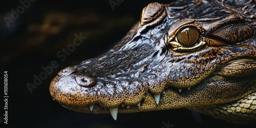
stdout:
<svg viewBox="0 0 256 128">
<path fill-rule="evenodd" d="M 177 33 L 177 41 L 183 46 L 193 46 L 199 39 L 199 32 L 194 27 L 187 27 Z"/>
</svg>

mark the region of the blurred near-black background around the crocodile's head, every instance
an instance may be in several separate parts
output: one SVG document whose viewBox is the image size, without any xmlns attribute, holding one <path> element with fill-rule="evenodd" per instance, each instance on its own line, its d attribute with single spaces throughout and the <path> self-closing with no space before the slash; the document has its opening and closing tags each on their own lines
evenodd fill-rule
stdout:
<svg viewBox="0 0 256 128">
<path fill-rule="evenodd" d="M 109 1 L 40 1 L 30 3 L 10 27 L 4 20 L 11 9 L 22 6 L 19 1 L 5 1 L 0 5 L 0 66 L 1 74 L 8 71 L 8 125 L 0 127 L 249 127 L 237 125 L 185 109 L 118 114 L 82 114 L 63 108 L 49 93 L 51 80 L 65 67 L 96 57 L 109 50 L 139 20 L 143 7 L 155 1 L 128 1 L 115 6 Z M 169 1 L 158 1 L 168 3 Z M 64 61 L 57 52 L 67 48 L 74 34 L 86 36 Z M 32 89 L 34 75 L 44 72 L 56 60 L 58 67 Z M 1 80 L 3 80 L 3 75 Z M 4 81 L 4 80 L 3 80 Z M 1 86 L 1 97 L 4 96 Z M 4 102 L 1 115 L 4 115 Z M 0 116 L 0 121 L 4 116 Z"/>
</svg>

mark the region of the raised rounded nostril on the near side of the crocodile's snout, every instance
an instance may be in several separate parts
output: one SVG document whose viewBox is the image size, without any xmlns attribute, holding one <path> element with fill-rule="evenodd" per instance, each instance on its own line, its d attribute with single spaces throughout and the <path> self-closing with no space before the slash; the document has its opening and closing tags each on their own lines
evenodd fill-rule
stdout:
<svg viewBox="0 0 256 128">
<path fill-rule="evenodd" d="M 76 83 L 81 87 L 90 88 L 93 87 L 96 83 L 96 81 L 92 77 L 82 74 L 77 74 L 75 79 Z"/>
</svg>

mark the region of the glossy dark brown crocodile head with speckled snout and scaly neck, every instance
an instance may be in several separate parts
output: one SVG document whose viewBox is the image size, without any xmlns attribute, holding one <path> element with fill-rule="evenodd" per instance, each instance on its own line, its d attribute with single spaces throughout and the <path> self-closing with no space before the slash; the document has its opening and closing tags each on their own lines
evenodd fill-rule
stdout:
<svg viewBox="0 0 256 128">
<path fill-rule="evenodd" d="M 50 94 L 81 113 L 189 109 L 256 121 L 256 2 L 151 3 L 108 52 L 53 78 Z"/>
</svg>

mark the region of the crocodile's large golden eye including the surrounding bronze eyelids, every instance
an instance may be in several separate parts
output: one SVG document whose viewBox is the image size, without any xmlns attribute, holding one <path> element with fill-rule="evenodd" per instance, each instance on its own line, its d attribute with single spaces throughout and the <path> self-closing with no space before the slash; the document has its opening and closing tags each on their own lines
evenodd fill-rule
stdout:
<svg viewBox="0 0 256 128">
<path fill-rule="evenodd" d="M 167 34 L 167 46 L 173 51 L 189 53 L 206 47 L 205 30 L 195 19 L 181 19 Z"/>
</svg>

